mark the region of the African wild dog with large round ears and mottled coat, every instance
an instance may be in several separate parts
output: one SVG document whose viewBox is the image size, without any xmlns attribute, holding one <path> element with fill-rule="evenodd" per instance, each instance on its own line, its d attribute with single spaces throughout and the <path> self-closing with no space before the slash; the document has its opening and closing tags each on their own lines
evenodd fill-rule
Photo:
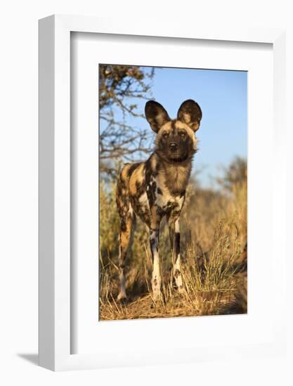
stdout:
<svg viewBox="0 0 293 386">
<path fill-rule="evenodd" d="M 180 293 L 181 276 L 179 220 L 190 178 L 192 160 L 197 151 L 195 132 L 200 128 L 202 111 L 194 100 L 185 100 L 177 119 L 155 101 L 145 104 L 145 118 L 155 133 L 155 152 L 145 162 L 125 164 L 117 182 L 116 201 L 120 217 L 119 295 L 126 298 L 124 261 L 134 234 L 136 215 L 145 222 L 152 253 L 152 294 L 162 298 L 159 264 L 159 225 L 166 216 L 174 261 L 174 277 Z"/>
</svg>

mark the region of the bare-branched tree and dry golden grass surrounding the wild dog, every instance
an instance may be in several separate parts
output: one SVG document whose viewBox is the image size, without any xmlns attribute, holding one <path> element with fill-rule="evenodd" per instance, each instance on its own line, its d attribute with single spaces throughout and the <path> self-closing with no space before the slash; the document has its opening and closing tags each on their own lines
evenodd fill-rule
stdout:
<svg viewBox="0 0 293 386">
<path fill-rule="evenodd" d="M 100 67 L 100 118 L 107 125 L 105 132 L 100 133 L 99 319 L 246 313 L 247 162 L 240 158 L 219 173 L 213 189 L 201 187 L 195 175 L 190 180 L 181 213 L 185 293 L 179 295 L 174 286 L 168 227 L 163 221 L 159 255 L 164 301 L 153 301 L 148 229 L 137 218 L 134 242 L 125 264 L 129 298 L 124 304 L 116 301 L 119 283 L 116 178 L 122 160 L 147 159 L 147 153 L 150 154 L 145 133 L 136 135 L 136 141 L 125 136 L 129 133 L 124 117 L 141 114 L 127 100 L 150 96 L 148 82 L 153 71 L 145 74 L 140 67 L 103 66 Z M 120 109 L 120 114 L 114 113 L 114 108 Z"/>
</svg>

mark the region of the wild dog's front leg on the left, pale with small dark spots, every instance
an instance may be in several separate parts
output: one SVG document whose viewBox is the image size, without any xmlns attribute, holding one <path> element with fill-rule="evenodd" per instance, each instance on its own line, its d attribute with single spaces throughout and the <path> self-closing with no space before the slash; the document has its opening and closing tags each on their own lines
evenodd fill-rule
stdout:
<svg viewBox="0 0 293 386">
<path fill-rule="evenodd" d="M 150 249 L 152 251 L 152 294 L 155 300 L 159 300 L 162 298 L 162 279 L 159 267 L 159 229 L 150 229 Z"/>
</svg>

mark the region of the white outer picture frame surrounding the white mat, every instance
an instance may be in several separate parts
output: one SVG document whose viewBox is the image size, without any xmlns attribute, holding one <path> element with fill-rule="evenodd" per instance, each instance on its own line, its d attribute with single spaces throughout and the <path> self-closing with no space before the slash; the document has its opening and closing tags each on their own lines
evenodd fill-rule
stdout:
<svg viewBox="0 0 293 386">
<path fill-rule="evenodd" d="M 139 20 L 124 25 L 122 20 L 53 15 L 39 21 L 39 364 L 54 371 L 131 365 L 130 357 L 117 347 L 115 360 L 105 353 L 71 354 L 70 304 L 70 33 L 91 32 L 139 36 L 247 41 L 273 44 L 275 199 L 285 197 L 285 180 L 278 175 L 284 163 L 285 132 L 285 32 L 282 29 L 218 29 L 174 25 L 171 21 L 149 23 Z M 154 38 L 155 39 L 155 38 Z M 278 184 L 278 189 L 277 189 Z M 277 192 L 278 190 L 278 192 Z M 285 207 L 273 213 L 276 223 L 285 227 Z M 285 233 L 285 232 L 284 232 Z M 281 236 L 282 237 L 282 236 Z M 285 272 L 285 242 L 278 248 L 279 281 Z M 282 291 L 278 290 L 278 318 L 270 344 L 246 347 L 202 347 L 190 361 L 223 357 L 278 355 L 285 350 L 285 324 Z M 115 347 L 113 347 L 115 350 Z M 148 356 L 135 364 L 169 363 L 167 350 L 162 360 L 148 362 Z M 165 354 L 165 355 L 164 355 Z"/>
</svg>

